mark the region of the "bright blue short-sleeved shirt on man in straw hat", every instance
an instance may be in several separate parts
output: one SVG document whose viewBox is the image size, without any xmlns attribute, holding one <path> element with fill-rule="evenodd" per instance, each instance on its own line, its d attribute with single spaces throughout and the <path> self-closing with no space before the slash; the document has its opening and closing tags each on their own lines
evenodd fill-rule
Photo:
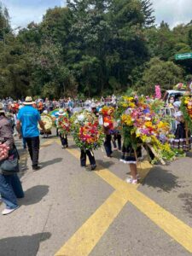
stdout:
<svg viewBox="0 0 192 256">
<path fill-rule="evenodd" d="M 38 137 L 38 121 L 41 119 L 40 114 L 36 108 L 32 106 L 25 106 L 21 108 L 18 117 L 22 125 L 23 137 Z"/>
</svg>

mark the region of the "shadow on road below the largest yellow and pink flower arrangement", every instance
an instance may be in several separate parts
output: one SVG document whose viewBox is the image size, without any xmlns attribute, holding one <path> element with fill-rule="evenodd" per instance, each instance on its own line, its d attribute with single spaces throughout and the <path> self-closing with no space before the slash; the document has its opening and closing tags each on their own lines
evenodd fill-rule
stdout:
<svg viewBox="0 0 192 256">
<path fill-rule="evenodd" d="M 171 172 L 162 169 L 160 166 L 155 166 L 149 172 L 148 176 L 144 179 L 143 185 L 148 187 L 159 188 L 158 192 L 162 190 L 169 193 L 172 189 L 181 188 L 181 184 L 178 182 L 178 177 Z"/>
</svg>

